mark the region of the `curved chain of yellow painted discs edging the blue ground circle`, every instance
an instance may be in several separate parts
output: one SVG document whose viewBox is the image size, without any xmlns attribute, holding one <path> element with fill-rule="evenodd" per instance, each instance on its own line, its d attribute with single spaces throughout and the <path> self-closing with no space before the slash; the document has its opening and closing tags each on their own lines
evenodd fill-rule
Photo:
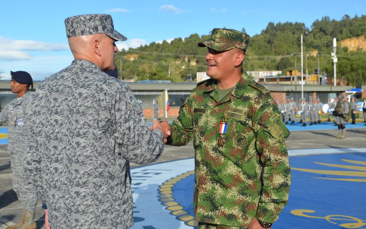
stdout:
<svg viewBox="0 0 366 229">
<path fill-rule="evenodd" d="M 171 211 L 172 215 L 175 215 L 177 219 L 180 221 L 184 221 L 184 223 L 188 226 L 198 226 L 198 223 L 195 221 L 195 217 L 193 215 L 189 215 L 187 211 L 184 211 L 183 207 L 179 205 L 179 203 L 175 202 L 174 200 L 174 192 L 172 188 L 178 181 L 194 174 L 194 171 L 188 171 L 187 173 L 180 174 L 176 177 L 173 177 L 167 181 L 165 181 L 159 187 L 159 194 L 160 198 L 159 201 L 162 202 L 163 205 L 168 206 L 167 210 Z M 168 193 L 169 192 L 169 193 Z"/>
</svg>

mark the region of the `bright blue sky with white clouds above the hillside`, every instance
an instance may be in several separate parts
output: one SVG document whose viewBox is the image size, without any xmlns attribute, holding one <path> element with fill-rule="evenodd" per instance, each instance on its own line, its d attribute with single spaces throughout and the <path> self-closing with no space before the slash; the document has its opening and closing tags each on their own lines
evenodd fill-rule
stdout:
<svg viewBox="0 0 366 229">
<path fill-rule="evenodd" d="M 153 41 L 208 34 L 215 27 L 241 30 L 253 36 L 268 22 L 304 22 L 322 16 L 366 14 L 365 0 L 278 1 L 1 1 L 0 72 L 28 71 L 34 80 L 70 65 L 64 19 L 80 14 L 111 14 L 115 29 L 128 38 L 117 47 L 135 48 Z"/>
</svg>

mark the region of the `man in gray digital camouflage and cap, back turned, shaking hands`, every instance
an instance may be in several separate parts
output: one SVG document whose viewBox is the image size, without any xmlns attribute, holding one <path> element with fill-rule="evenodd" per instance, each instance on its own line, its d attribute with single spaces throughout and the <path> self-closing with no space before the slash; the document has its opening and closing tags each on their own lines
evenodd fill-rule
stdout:
<svg viewBox="0 0 366 229">
<path fill-rule="evenodd" d="M 134 225 L 130 162 L 150 163 L 164 150 L 131 89 L 113 70 L 111 15 L 65 19 L 74 61 L 38 84 L 29 117 L 24 167 L 47 205 L 52 228 L 126 229 Z"/>
</svg>

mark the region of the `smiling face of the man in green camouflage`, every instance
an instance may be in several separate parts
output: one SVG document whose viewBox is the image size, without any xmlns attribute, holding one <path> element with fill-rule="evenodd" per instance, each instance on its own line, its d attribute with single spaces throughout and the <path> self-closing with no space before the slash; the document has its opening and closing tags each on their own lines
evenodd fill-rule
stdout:
<svg viewBox="0 0 366 229">
<path fill-rule="evenodd" d="M 234 69 L 233 54 L 227 51 L 216 51 L 207 47 L 208 53 L 206 55 L 207 72 L 206 74 L 215 79 L 220 80 L 229 74 Z"/>
</svg>

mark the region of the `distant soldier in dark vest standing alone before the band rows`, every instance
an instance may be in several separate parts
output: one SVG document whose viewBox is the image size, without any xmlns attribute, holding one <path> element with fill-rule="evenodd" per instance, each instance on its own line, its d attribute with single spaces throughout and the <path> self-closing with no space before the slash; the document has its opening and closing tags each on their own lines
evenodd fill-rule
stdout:
<svg viewBox="0 0 366 229">
<path fill-rule="evenodd" d="M 338 95 L 339 101 L 336 104 L 336 108 L 333 115 L 336 119 L 336 124 L 338 126 L 339 135 L 336 138 L 345 138 L 346 134 L 346 122 L 349 119 L 349 105 L 347 99 L 344 97 L 343 93 Z"/>
</svg>

